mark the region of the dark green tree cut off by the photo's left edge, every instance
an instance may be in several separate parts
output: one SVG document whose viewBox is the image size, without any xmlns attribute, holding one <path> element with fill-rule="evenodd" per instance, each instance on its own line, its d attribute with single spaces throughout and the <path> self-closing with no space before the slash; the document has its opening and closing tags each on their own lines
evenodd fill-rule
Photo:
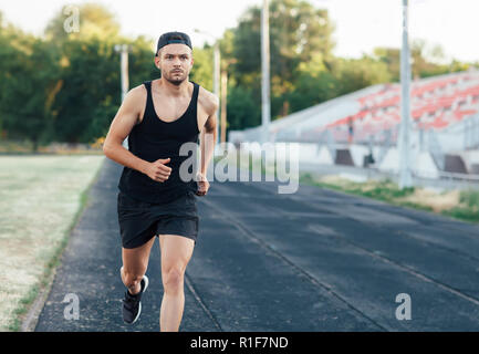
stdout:
<svg viewBox="0 0 479 354">
<path fill-rule="evenodd" d="M 56 52 L 12 25 L 0 32 L 0 116 L 13 138 L 29 138 L 37 150 L 58 92 Z"/>
</svg>

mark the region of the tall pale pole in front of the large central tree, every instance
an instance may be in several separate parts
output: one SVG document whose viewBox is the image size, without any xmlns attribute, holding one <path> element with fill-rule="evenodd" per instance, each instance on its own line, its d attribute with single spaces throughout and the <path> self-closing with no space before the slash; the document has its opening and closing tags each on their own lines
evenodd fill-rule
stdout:
<svg viewBox="0 0 479 354">
<path fill-rule="evenodd" d="M 261 140 L 269 140 L 270 106 L 270 22 L 268 0 L 261 10 Z"/>
</svg>

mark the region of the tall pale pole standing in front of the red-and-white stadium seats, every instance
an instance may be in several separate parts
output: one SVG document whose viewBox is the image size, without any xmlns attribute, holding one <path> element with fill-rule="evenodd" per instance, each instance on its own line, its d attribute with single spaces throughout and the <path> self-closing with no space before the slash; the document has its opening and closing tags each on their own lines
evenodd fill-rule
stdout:
<svg viewBox="0 0 479 354">
<path fill-rule="evenodd" d="M 399 134 L 399 188 L 410 187 L 413 176 L 410 171 L 410 63 L 408 43 L 408 0 L 403 0 L 403 50 L 400 51 L 400 134 Z"/>
</svg>

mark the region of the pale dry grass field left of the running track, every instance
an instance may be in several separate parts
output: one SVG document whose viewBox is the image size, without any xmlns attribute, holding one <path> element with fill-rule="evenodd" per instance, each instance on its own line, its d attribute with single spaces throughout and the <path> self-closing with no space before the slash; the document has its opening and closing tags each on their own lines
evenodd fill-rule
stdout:
<svg viewBox="0 0 479 354">
<path fill-rule="evenodd" d="M 103 160 L 101 155 L 0 156 L 0 331 L 19 331 L 48 287 Z"/>
</svg>

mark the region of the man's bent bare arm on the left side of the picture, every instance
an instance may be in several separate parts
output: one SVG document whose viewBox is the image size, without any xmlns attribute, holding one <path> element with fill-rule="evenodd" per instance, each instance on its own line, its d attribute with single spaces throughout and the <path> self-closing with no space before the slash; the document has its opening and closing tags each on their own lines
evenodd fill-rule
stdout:
<svg viewBox="0 0 479 354">
<path fill-rule="evenodd" d="M 139 112 L 146 102 L 146 91 L 142 86 L 132 88 L 125 96 L 116 116 L 114 117 L 108 134 L 103 144 L 103 153 L 114 162 L 146 174 L 148 162 L 133 155 L 123 147 L 123 142 L 129 135 L 138 121 Z"/>
</svg>

